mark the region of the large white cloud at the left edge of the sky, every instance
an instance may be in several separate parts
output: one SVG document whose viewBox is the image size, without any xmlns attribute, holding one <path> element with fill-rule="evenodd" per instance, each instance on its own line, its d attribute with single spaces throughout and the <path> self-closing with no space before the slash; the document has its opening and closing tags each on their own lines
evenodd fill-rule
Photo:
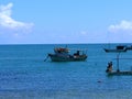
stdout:
<svg viewBox="0 0 132 99">
<path fill-rule="evenodd" d="M 7 6 L 0 6 L 0 28 L 10 29 L 13 31 L 30 31 L 33 26 L 33 23 L 24 23 L 20 21 L 15 21 L 11 18 L 11 8 L 13 3 L 9 3 Z"/>
</svg>

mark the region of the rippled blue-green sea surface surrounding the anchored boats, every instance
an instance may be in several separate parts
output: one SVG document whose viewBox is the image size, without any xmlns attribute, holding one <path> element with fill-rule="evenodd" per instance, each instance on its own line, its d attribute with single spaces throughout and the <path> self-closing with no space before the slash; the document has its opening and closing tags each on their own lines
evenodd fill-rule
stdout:
<svg viewBox="0 0 132 99">
<path fill-rule="evenodd" d="M 87 48 L 85 62 L 51 62 L 54 47 Z M 111 44 L 116 46 L 117 44 Z M 117 53 L 107 44 L 0 45 L 0 99 L 132 99 L 132 76 L 108 76 Z M 132 51 L 120 54 L 120 70 L 132 69 Z"/>
</svg>

